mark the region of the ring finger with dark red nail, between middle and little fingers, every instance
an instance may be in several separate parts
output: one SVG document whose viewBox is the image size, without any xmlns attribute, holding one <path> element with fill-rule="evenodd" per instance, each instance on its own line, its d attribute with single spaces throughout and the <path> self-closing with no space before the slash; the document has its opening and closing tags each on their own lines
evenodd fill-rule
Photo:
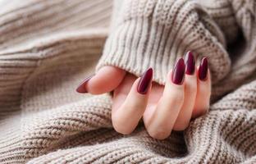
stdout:
<svg viewBox="0 0 256 164">
<path fill-rule="evenodd" d="M 194 102 L 197 92 L 197 76 L 195 74 L 194 56 L 192 52 L 187 52 L 185 56 L 185 96 L 179 116 L 176 119 L 173 130 L 185 130 L 190 124 L 190 119 L 194 109 Z"/>
</svg>

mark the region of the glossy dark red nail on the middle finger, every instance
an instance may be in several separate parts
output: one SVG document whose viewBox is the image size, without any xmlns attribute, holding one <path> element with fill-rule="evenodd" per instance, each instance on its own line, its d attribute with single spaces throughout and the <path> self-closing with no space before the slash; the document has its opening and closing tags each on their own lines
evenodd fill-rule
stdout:
<svg viewBox="0 0 256 164">
<path fill-rule="evenodd" d="M 174 69 L 172 71 L 171 74 L 171 81 L 174 84 L 182 84 L 183 83 L 183 79 L 184 79 L 184 74 L 185 74 L 185 63 L 183 58 L 180 58 L 175 66 Z"/>
</svg>

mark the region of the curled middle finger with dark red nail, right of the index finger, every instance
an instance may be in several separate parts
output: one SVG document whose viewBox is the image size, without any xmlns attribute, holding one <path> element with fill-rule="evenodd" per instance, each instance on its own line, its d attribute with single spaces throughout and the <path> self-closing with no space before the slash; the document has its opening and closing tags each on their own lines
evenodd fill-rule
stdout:
<svg viewBox="0 0 256 164">
<path fill-rule="evenodd" d="M 167 75 L 167 83 L 157 108 L 151 117 L 144 117 L 149 135 L 155 139 L 166 139 L 170 134 L 184 100 L 185 63 L 176 62 L 174 70 Z M 171 75 L 171 81 L 170 79 Z M 149 116 L 149 115 L 148 115 Z"/>
</svg>

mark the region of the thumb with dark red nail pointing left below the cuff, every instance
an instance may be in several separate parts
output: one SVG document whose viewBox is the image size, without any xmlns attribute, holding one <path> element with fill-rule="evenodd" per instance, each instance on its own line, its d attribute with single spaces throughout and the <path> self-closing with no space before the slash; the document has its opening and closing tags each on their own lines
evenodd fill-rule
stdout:
<svg viewBox="0 0 256 164">
<path fill-rule="evenodd" d="M 116 89 L 126 71 L 116 66 L 103 66 L 96 75 L 86 78 L 76 89 L 78 93 L 101 94 Z"/>
</svg>

